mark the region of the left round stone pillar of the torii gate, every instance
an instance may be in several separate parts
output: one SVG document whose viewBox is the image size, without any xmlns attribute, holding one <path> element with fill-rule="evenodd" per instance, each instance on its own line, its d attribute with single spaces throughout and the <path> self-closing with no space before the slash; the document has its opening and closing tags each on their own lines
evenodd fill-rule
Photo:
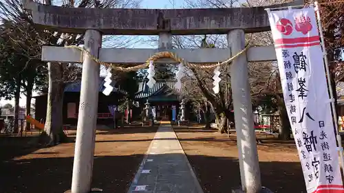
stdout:
<svg viewBox="0 0 344 193">
<path fill-rule="evenodd" d="M 98 57 L 102 36 L 96 30 L 85 33 L 85 49 Z M 98 112 L 100 67 L 87 54 L 84 55 L 81 78 L 80 106 L 74 153 L 72 193 L 91 191 Z"/>
</svg>

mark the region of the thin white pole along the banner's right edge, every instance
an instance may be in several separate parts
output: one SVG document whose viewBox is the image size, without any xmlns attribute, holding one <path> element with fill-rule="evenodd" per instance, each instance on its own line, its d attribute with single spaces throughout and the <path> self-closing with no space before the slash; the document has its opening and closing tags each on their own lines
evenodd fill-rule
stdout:
<svg viewBox="0 0 344 193">
<path fill-rule="evenodd" d="M 344 157 L 343 157 L 343 145 L 342 145 L 342 139 L 341 135 L 339 134 L 339 129 L 338 129 L 338 117 L 336 115 L 336 107 L 334 106 L 334 97 L 333 97 L 333 88 L 330 80 L 330 69 L 328 67 L 328 59 L 327 59 L 327 51 L 325 48 L 325 40 L 323 37 L 323 25 L 321 24 L 321 17 L 320 17 L 320 11 L 319 11 L 319 3 L 318 1 L 314 2 L 314 10 L 316 12 L 316 19 L 318 20 L 318 25 L 319 25 L 319 33 L 320 33 L 320 38 L 321 38 L 321 46 L 323 47 L 323 59 L 325 61 L 325 70 L 327 74 L 327 84 L 328 88 L 330 89 L 330 98 L 331 98 L 331 106 L 332 106 L 332 120 L 334 121 L 334 126 L 336 128 L 336 139 L 338 142 L 338 150 L 340 152 L 340 157 L 341 157 L 341 165 L 342 165 L 342 173 L 344 176 Z"/>
</svg>

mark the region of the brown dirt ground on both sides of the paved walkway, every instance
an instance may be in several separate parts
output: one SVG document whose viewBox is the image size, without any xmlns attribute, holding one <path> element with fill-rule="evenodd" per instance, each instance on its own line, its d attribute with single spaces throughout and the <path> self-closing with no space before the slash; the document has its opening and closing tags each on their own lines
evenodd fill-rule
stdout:
<svg viewBox="0 0 344 193">
<path fill-rule="evenodd" d="M 200 180 L 204 192 L 230 192 L 239 186 L 235 135 L 228 139 L 200 126 L 174 126 L 178 139 Z M 92 187 L 125 193 L 133 179 L 155 128 L 97 130 Z M 0 136 L 0 192 L 65 192 L 72 182 L 74 143 L 52 148 L 29 146 L 30 137 Z M 75 130 L 69 130 L 75 138 Z M 258 144 L 262 184 L 273 192 L 305 192 L 294 141 L 263 139 Z M 130 143 L 129 143 L 130 142 Z"/>
</svg>

